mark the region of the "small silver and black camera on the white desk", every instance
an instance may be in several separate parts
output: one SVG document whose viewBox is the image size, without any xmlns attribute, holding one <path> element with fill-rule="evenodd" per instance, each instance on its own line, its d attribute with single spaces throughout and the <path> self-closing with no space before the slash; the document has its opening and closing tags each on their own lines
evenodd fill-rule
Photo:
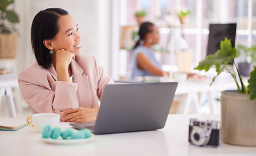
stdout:
<svg viewBox="0 0 256 156">
<path fill-rule="evenodd" d="M 197 146 L 220 146 L 220 126 L 218 121 L 190 119 L 188 142 Z"/>
</svg>

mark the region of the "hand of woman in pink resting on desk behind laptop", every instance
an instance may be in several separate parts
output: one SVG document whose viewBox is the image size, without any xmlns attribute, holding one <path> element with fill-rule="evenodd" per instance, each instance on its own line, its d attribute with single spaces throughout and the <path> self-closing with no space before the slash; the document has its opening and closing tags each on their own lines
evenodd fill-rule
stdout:
<svg viewBox="0 0 256 156">
<path fill-rule="evenodd" d="M 61 112 L 66 115 L 61 120 L 63 122 L 94 122 L 98 116 L 99 107 L 87 109 L 78 107 L 76 109 L 68 109 Z"/>
</svg>

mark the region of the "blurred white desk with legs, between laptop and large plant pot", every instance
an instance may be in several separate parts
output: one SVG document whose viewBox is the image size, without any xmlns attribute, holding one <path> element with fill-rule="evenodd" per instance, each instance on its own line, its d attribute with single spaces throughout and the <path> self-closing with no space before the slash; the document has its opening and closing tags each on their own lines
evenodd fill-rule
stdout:
<svg viewBox="0 0 256 156">
<path fill-rule="evenodd" d="M 216 105 L 213 93 L 215 92 L 218 94 L 218 98 L 220 98 L 221 90 L 236 89 L 236 84 L 232 77 L 218 77 L 218 79 L 212 83 L 212 86 L 210 86 L 211 82 L 212 79 L 199 81 L 192 81 L 189 79 L 188 81 L 178 83 L 178 87 L 175 92 L 176 96 L 181 96 L 178 114 L 187 114 L 189 107 L 191 107 L 192 113 L 200 113 L 199 110 L 201 102 L 199 100 L 199 95 L 203 92 L 207 95 L 210 113 L 214 113 L 214 110 L 217 110 L 217 113 L 220 114 L 220 109 L 218 109 L 218 106 Z"/>
</svg>

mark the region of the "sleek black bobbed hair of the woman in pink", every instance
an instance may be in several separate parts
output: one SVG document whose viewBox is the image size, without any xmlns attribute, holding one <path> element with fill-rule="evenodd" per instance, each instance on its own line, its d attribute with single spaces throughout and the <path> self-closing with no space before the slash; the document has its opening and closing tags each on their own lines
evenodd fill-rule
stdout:
<svg viewBox="0 0 256 156">
<path fill-rule="evenodd" d="M 68 12 L 62 8 L 47 8 L 36 14 L 31 26 L 31 44 L 36 60 L 40 66 L 48 69 L 51 66 L 50 50 L 44 40 L 50 40 L 59 32 L 58 21 Z"/>
</svg>

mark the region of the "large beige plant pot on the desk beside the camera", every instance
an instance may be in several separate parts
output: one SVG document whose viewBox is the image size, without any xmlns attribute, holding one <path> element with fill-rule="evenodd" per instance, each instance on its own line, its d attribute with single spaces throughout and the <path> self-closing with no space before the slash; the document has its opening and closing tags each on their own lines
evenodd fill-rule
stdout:
<svg viewBox="0 0 256 156">
<path fill-rule="evenodd" d="M 256 146 L 256 99 L 237 90 L 221 92 L 222 142 Z"/>
</svg>

